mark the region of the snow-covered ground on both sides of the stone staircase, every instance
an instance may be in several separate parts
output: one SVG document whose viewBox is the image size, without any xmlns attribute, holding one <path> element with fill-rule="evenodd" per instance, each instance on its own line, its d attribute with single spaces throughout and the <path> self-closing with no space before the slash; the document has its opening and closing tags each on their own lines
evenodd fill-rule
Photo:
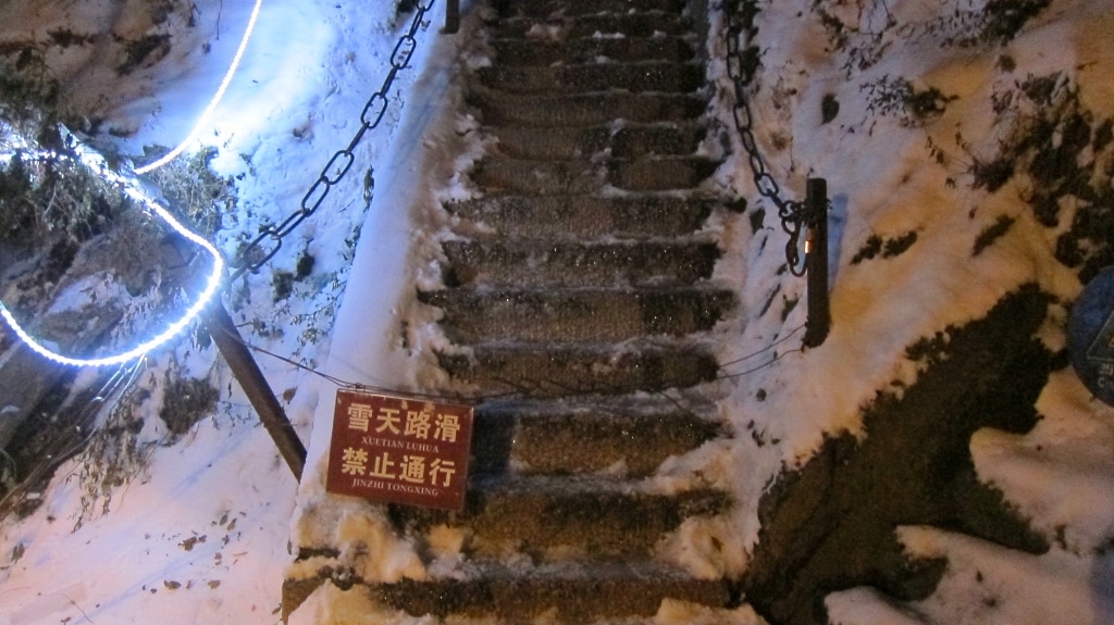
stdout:
<svg viewBox="0 0 1114 625">
<path fill-rule="evenodd" d="M 140 19 L 150 12 L 138 0 L 9 0 L 0 6 L 0 41 L 45 41 L 61 24 L 120 38 L 173 30 L 169 49 L 127 76 L 114 69 L 119 50 L 109 38 L 50 58 L 75 107 L 105 120 L 99 139 L 138 155 L 144 146 L 173 146 L 189 133 L 252 6 L 194 2 L 186 13 L 196 26 L 188 27 L 174 17 Z M 746 216 L 714 217 L 709 227 L 725 252 L 715 279 L 742 295 L 740 317 L 717 329 L 721 361 L 733 363 L 725 373 L 737 374 L 723 416 L 740 436 L 671 460 L 655 487 L 677 487 L 698 474 L 733 490 L 740 506 L 729 519 L 687 523 L 668 543 L 670 557 L 705 574 L 743 571 L 770 480 L 807 460 L 824 433 L 868 436 L 860 409 L 877 390 L 916 380 L 918 365 L 905 350 L 918 338 L 979 318 L 1005 294 L 1034 282 L 1061 298 L 1049 316 L 1059 323 L 1049 321 L 1040 338 L 1054 350 L 1065 345 L 1067 305 L 1083 286 L 1053 256 L 1069 219 L 1057 228 L 1038 224 L 1026 202 L 1032 180 L 1018 175 L 990 192 L 975 185 L 970 166 L 993 158 L 1040 115 L 1044 105 L 1022 88 L 1033 78 L 1054 77 L 1062 99 L 1077 95 L 1093 127 L 1114 116 L 1106 80 L 1114 71 L 1114 3 L 1057 0 L 1008 42 L 965 43 L 975 31 L 964 16 L 994 7 L 1001 2 L 760 2 L 756 135 L 789 194 L 800 197 L 807 176 L 829 181 L 834 324 L 822 346 L 798 350 L 803 333 L 792 333 L 804 323 L 804 306 L 782 312 L 801 298 L 804 284 L 780 270 L 784 235 L 772 207 L 756 232 Z M 411 281 L 429 279 L 431 242 L 447 219 L 429 207 L 467 192 L 453 175 L 477 147 L 465 139 L 468 120 L 443 108 L 453 103 L 457 54 L 475 52 L 457 51 L 458 39 L 437 32 L 442 7 L 436 9 L 433 24 L 419 36 L 414 67 L 391 93 L 384 128 L 361 143 L 354 171 L 284 242 L 271 268 L 234 289 L 229 306 L 237 321 L 257 320 L 245 336 L 272 351 L 350 381 L 405 390 L 420 388 L 430 374 L 402 345 L 399 328 L 407 324 L 412 345 L 438 337 L 420 334 L 428 312 L 401 294 Z M 841 46 L 833 46 L 820 9 L 829 26 L 843 24 Z M 324 163 L 348 145 L 405 26 L 408 17 L 397 17 L 393 6 L 264 2 L 243 65 L 199 133 L 219 150 L 214 167 L 236 178 L 240 212 L 218 241 L 226 252 L 234 250 L 235 232 L 252 234 L 295 210 Z M 713 29 L 720 27 L 716 17 Z M 722 58 L 722 42 L 711 46 Z M 711 72 L 730 97 L 724 68 L 713 63 Z M 929 106 L 912 110 L 908 100 L 888 97 L 903 86 L 929 93 Z M 838 102 L 834 116 L 825 102 Z M 722 107 L 716 115 L 730 119 Z M 1081 158 L 1108 162 L 1111 149 Z M 758 202 L 737 152 L 736 142 L 712 183 Z M 364 172 L 372 166 L 375 195 L 365 212 Z M 1108 186 L 1108 173 L 1094 169 Z M 1000 218 L 1012 226 L 973 255 L 975 241 Z M 898 240 L 910 232 L 916 242 L 903 252 L 853 261 L 871 237 Z M 294 271 L 304 254 L 315 259 L 311 275 L 276 302 L 273 272 Z M 341 295 L 344 305 L 334 311 Z M 42 494 L 43 505 L 0 529 L 0 625 L 276 622 L 292 560 L 287 543 L 312 543 L 321 533 L 343 540 L 355 532 L 378 545 L 381 555 L 364 572 L 369 578 L 424 573 L 371 506 L 324 494 L 333 383 L 260 356 L 310 442 L 299 487 L 212 348 L 153 353 L 149 377 L 160 379 L 172 361 L 222 389 L 218 411 L 174 444 L 152 446 L 146 463 L 107 500 L 90 502 L 78 477 L 88 458 L 65 465 Z M 1114 537 L 1114 408 L 1093 399 L 1071 370 L 1052 376 L 1037 408 L 1044 419 L 1032 433 L 983 430 L 970 448 L 980 478 L 1001 488 L 1052 549 L 1018 555 L 939 529 L 901 528 L 910 553 L 948 557 L 937 593 L 903 606 L 870 589 L 837 593 L 828 601 L 833 622 L 1114 622 L 1114 564 L 1106 555 Z M 143 438 L 169 440 L 154 414 Z M 712 537 L 724 547 L 707 548 Z M 668 609 L 664 622 L 683 613 Z"/>
</svg>

